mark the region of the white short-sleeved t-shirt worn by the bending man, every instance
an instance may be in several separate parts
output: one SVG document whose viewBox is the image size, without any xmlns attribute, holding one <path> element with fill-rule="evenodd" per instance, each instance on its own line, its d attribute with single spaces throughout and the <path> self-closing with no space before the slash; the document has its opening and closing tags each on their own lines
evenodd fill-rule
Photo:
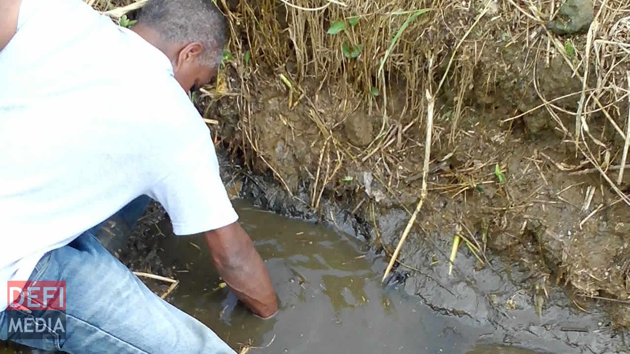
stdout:
<svg viewBox="0 0 630 354">
<path fill-rule="evenodd" d="M 0 311 L 7 280 L 143 194 L 178 235 L 238 219 L 166 55 L 81 0 L 23 0 L 0 50 Z"/>
</svg>

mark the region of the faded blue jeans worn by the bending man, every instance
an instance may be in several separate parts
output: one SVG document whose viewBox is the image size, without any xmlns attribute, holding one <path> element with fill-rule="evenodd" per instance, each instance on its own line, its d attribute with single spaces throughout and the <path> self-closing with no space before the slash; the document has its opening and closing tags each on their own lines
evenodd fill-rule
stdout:
<svg viewBox="0 0 630 354">
<path fill-rule="evenodd" d="M 149 200 L 140 197 L 114 216 L 131 229 Z M 49 329 L 37 339 L 9 336 L 3 311 L 1 340 L 68 353 L 235 354 L 207 326 L 151 292 L 96 239 L 98 229 L 46 253 L 29 279 L 66 281 L 65 335 Z M 36 312 L 18 316 L 39 316 Z"/>
</svg>

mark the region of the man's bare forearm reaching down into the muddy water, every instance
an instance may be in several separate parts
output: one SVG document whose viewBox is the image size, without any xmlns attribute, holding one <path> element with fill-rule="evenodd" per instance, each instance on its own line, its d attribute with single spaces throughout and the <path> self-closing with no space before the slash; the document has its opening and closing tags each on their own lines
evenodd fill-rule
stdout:
<svg viewBox="0 0 630 354">
<path fill-rule="evenodd" d="M 1 1 L 1 0 L 0 0 Z M 238 222 L 204 233 L 214 265 L 234 294 L 254 314 L 268 318 L 278 300 L 265 263 Z"/>
</svg>

